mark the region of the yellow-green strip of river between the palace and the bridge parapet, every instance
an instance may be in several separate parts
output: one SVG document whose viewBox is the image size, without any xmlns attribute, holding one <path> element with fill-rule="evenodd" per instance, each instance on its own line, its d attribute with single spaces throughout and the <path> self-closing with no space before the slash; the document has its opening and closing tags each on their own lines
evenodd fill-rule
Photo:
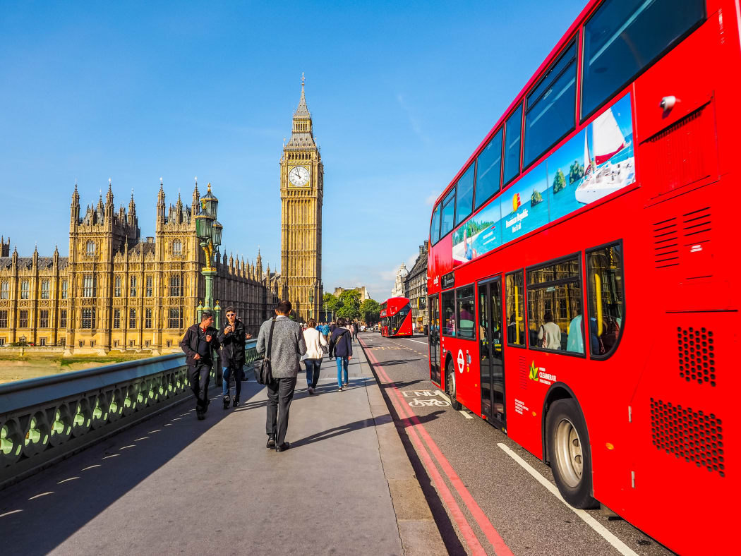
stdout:
<svg viewBox="0 0 741 556">
<path fill-rule="evenodd" d="M 150 351 L 136 354 L 108 354 L 92 356 L 62 357 L 28 357 L 21 355 L 3 355 L 0 357 L 0 384 L 27 378 L 47 377 L 51 374 L 82 371 L 85 368 L 112 365 L 122 361 L 132 361 L 153 357 Z"/>
</svg>

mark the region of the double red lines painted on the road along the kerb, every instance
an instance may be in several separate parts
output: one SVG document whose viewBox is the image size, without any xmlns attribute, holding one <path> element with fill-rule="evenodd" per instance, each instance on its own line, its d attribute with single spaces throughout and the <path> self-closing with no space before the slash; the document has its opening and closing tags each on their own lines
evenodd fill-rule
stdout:
<svg viewBox="0 0 741 556">
<path fill-rule="evenodd" d="M 365 348 L 368 347 L 362 340 L 361 344 Z M 396 407 L 396 411 L 399 413 L 399 415 L 404 415 L 405 418 L 411 423 L 411 426 L 407 428 L 408 431 L 413 433 L 413 437 L 412 434 L 410 434 L 410 437 L 412 437 L 413 443 L 415 444 L 417 451 L 422 457 L 422 460 L 425 461 L 425 465 L 428 468 L 428 471 L 430 471 L 433 481 L 438 488 L 438 491 L 445 500 L 445 503 L 448 504 L 448 507 L 450 507 L 451 514 L 453 514 L 453 518 L 456 520 L 456 523 L 458 523 L 458 526 L 461 529 L 465 540 L 468 542 L 469 546 L 471 546 L 471 550 L 473 552 L 476 552 L 476 546 L 478 546 L 478 548 L 481 550 L 483 549 L 478 539 L 476 539 L 476 535 L 473 534 L 473 529 L 471 529 L 468 521 L 465 520 L 465 516 L 462 514 L 462 512 L 460 512 L 458 504 L 455 502 L 454 499 L 452 499 L 451 492 L 448 489 L 448 486 L 445 485 L 445 482 L 442 481 L 442 477 L 437 471 L 437 468 L 433 465 L 430 455 L 428 454 L 424 445 L 422 445 L 422 443 L 419 441 L 419 437 L 416 436 L 416 431 L 419 431 L 419 434 L 422 436 L 422 438 L 425 439 L 425 443 L 427 443 L 430 451 L 437 460 L 437 463 L 439 463 L 440 467 L 442 468 L 442 471 L 448 477 L 448 480 L 451 481 L 453 487 L 455 487 L 456 492 L 458 492 L 459 496 L 465 503 L 468 511 L 471 512 L 473 519 L 475 519 L 476 523 L 479 524 L 479 527 L 484 532 L 484 535 L 486 535 L 486 538 L 491 543 L 491 546 L 494 546 L 496 554 L 499 556 L 514 556 L 505 541 L 502 539 L 502 536 L 499 535 L 498 532 L 496 532 L 496 529 L 494 529 L 494 526 L 491 524 L 489 518 L 483 512 L 479 504 L 476 503 L 476 500 L 473 499 L 471 493 L 468 492 L 468 489 L 466 489 L 462 480 L 460 480 L 460 477 L 458 477 L 458 474 L 453 469 L 453 466 L 451 466 L 451 463 L 448 462 L 448 459 L 442 454 L 442 451 L 439 449 L 435 441 L 432 440 L 432 437 L 428 434 L 425 427 L 422 425 L 422 423 L 419 422 L 416 414 L 414 414 L 411 409 L 408 408 L 407 405 L 404 403 L 404 398 L 402 397 L 401 392 L 399 392 L 399 388 L 396 388 L 393 380 L 391 380 L 391 378 L 388 376 L 382 365 L 378 363 L 376 357 L 373 357 L 373 354 L 370 351 L 368 351 L 367 353 L 368 357 L 371 359 L 371 363 L 373 363 L 373 366 L 379 371 L 379 377 L 381 377 L 385 383 L 391 385 L 391 390 L 396 396 L 396 400 L 393 400 L 392 398 L 391 401 Z M 448 500 L 448 497 L 451 498 L 450 501 Z M 467 532 L 470 533 L 470 535 L 473 535 L 473 538 L 469 537 Z"/>
</svg>

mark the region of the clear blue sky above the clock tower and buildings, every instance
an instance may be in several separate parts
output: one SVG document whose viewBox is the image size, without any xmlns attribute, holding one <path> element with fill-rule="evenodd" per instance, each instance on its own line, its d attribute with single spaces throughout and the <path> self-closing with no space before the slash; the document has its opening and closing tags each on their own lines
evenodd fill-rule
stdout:
<svg viewBox="0 0 741 556">
<path fill-rule="evenodd" d="M 222 200 L 227 252 L 280 258 L 279 156 L 301 73 L 325 164 L 323 279 L 391 291 L 431 202 L 567 30 L 559 2 L 4 1 L 0 234 L 66 254 L 70 195 L 133 188 L 154 234 L 159 177 Z M 202 188 L 203 190 L 203 188 Z M 12 249 L 12 247 L 11 247 Z"/>
</svg>

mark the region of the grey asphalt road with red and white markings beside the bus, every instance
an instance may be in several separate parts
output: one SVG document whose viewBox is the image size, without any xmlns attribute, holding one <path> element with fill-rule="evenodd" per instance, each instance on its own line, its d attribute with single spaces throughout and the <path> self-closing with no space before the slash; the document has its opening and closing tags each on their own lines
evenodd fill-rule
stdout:
<svg viewBox="0 0 741 556">
<path fill-rule="evenodd" d="M 622 519 L 575 512 L 547 488 L 548 466 L 451 408 L 429 380 L 426 337 L 360 339 L 451 554 L 673 554 Z"/>
</svg>

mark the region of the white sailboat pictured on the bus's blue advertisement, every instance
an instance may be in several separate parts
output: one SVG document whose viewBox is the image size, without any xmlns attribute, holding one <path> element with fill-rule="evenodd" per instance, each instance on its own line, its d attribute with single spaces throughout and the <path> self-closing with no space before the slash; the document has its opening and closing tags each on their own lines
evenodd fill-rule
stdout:
<svg viewBox="0 0 741 556">
<path fill-rule="evenodd" d="M 594 157 L 589 152 L 587 134 L 584 134 L 584 177 L 576 187 L 576 200 L 588 203 L 618 191 L 636 181 L 635 157 L 620 162 L 611 160 L 629 144 L 625 141 L 612 108 L 599 114 L 590 125 Z"/>
</svg>

